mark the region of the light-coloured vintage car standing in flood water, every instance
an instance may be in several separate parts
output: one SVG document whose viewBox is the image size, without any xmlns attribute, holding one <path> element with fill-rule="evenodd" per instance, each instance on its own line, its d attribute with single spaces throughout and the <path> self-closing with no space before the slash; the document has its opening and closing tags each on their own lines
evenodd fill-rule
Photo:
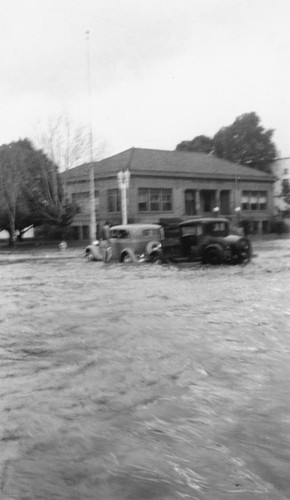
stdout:
<svg viewBox="0 0 290 500">
<path fill-rule="evenodd" d="M 109 229 L 109 240 L 94 241 L 85 249 L 87 260 L 149 262 L 164 237 L 158 224 L 122 224 Z"/>
</svg>

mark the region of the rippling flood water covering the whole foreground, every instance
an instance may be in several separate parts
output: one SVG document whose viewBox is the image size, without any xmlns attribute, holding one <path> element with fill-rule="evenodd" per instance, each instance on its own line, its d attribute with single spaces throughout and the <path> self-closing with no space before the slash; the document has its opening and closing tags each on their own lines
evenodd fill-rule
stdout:
<svg viewBox="0 0 290 500">
<path fill-rule="evenodd" d="M 290 499 L 290 240 L 259 245 L 0 254 L 1 500 Z"/>
</svg>

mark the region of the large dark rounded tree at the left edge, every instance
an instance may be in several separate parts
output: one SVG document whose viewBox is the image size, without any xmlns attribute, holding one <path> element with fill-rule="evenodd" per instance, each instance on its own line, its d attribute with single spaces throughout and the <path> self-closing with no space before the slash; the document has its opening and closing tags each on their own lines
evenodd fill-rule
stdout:
<svg viewBox="0 0 290 500">
<path fill-rule="evenodd" d="M 0 229 L 15 231 L 44 223 L 65 228 L 76 213 L 57 166 L 27 139 L 0 147 Z"/>
</svg>

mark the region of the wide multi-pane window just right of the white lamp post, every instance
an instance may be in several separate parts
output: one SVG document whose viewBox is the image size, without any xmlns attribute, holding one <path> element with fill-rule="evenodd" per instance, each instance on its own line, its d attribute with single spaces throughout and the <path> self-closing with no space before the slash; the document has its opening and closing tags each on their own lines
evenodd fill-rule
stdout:
<svg viewBox="0 0 290 500">
<path fill-rule="evenodd" d="M 139 212 L 171 212 L 172 189 L 139 188 Z"/>
</svg>

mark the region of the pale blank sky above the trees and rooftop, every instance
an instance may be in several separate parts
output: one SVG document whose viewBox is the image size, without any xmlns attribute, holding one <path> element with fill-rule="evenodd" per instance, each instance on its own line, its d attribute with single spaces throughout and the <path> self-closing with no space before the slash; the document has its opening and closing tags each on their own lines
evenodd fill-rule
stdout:
<svg viewBox="0 0 290 500">
<path fill-rule="evenodd" d="M 289 0 L 0 0 L 0 144 L 68 114 L 106 155 L 257 112 L 290 156 Z"/>
</svg>

